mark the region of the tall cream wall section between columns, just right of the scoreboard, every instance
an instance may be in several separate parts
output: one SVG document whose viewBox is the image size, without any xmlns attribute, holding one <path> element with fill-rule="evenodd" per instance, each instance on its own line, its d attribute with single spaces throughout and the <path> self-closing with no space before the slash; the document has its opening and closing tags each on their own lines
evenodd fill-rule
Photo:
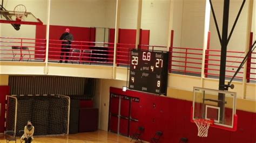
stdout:
<svg viewBox="0 0 256 143">
<path fill-rule="evenodd" d="M 204 20 L 205 20 L 205 0 L 174 0 L 173 27 L 174 39 L 173 47 L 183 48 L 203 48 L 204 41 Z M 186 52 L 181 49 L 174 49 L 176 52 Z M 201 53 L 201 51 L 187 51 L 189 53 Z M 173 54 L 183 56 L 185 54 Z M 188 57 L 201 58 L 201 55 L 187 54 Z M 174 58 L 173 60 L 185 61 L 184 58 Z M 199 62 L 201 60 L 187 59 L 188 62 Z M 174 62 L 173 65 L 185 66 L 185 63 Z M 198 67 L 201 65 L 186 63 L 187 66 Z M 175 67 L 172 69 L 185 70 L 184 67 Z M 200 72 L 200 69 L 186 68 L 189 71 Z"/>
</svg>

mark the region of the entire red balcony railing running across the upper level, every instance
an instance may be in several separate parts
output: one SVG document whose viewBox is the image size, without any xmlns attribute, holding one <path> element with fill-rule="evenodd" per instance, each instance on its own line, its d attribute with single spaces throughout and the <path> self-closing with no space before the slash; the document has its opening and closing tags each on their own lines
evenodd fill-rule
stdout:
<svg viewBox="0 0 256 143">
<path fill-rule="evenodd" d="M 72 41 L 69 48 L 62 40 L 49 40 L 48 62 L 60 62 L 113 66 L 114 44 L 108 42 Z M 0 37 L 0 60 L 20 62 L 45 62 L 46 40 L 29 38 Z M 116 66 L 129 65 L 129 52 L 136 48 L 134 44 L 117 44 Z M 167 51 L 165 46 L 138 45 L 138 48 Z M 203 49 L 188 47 L 169 48 L 169 73 L 201 76 Z M 227 51 L 226 77 L 232 77 L 238 69 L 245 53 Z M 204 74 L 208 78 L 218 78 L 220 68 L 220 50 L 206 49 Z M 235 77 L 241 80 L 244 67 Z M 256 81 L 256 52 L 248 56 L 246 80 Z"/>
</svg>

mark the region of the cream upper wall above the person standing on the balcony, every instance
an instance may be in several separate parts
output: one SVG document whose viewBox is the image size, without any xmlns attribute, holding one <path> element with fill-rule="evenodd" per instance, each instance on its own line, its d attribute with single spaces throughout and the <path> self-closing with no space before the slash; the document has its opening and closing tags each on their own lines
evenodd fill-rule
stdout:
<svg viewBox="0 0 256 143">
<path fill-rule="evenodd" d="M 109 6 L 114 5 L 114 2 L 105 0 L 51 1 L 50 25 L 106 27 L 106 17 L 110 17 L 107 14 L 114 14 L 114 12 L 106 11 Z M 114 21 L 112 18 L 111 20 Z"/>
</svg>

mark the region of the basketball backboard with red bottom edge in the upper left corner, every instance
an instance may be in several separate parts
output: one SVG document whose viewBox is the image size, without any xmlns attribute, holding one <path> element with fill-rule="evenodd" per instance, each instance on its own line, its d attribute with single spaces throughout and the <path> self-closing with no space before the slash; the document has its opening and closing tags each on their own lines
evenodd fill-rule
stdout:
<svg viewBox="0 0 256 143">
<path fill-rule="evenodd" d="M 31 12 L 25 12 L 21 19 L 17 19 L 14 11 L 0 10 L 0 23 L 43 25 L 43 22 L 36 18 Z"/>
</svg>

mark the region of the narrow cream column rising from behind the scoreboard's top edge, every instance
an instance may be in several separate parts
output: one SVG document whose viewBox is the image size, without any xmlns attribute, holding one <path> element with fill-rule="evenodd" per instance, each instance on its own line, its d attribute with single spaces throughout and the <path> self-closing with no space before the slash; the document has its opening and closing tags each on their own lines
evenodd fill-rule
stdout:
<svg viewBox="0 0 256 143">
<path fill-rule="evenodd" d="M 138 48 L 138 45 L 139 45 L 141 27 L 142 27 L 142 0 L 138 0 L 137 30 L 136 30 L 136 43 L 135 43 L 136 48 Z"/>
</svg>

